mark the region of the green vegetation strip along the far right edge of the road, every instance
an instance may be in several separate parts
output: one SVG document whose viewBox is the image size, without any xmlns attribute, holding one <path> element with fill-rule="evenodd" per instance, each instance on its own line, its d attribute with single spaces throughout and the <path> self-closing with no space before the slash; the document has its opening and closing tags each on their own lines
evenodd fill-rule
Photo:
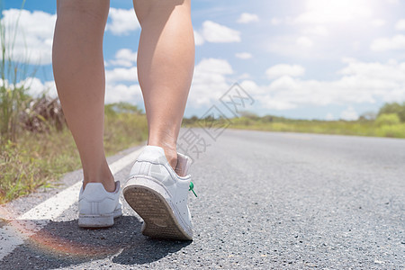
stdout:
<svg viewBox="0 0 405 270">
<path fill-rule="evenodd" d="M 252 112 L 229 120 L 231 129 L 405 138 L 405 103 L 386 103 L 379 112 L 365 112 L 357 121 L 294 120 L 274 115 L 260 117 Z M 193 116 L 184 119 L 184 126 L 198 127 L 200 121 L 206 126 L 212 120 Z"/>
</svg>

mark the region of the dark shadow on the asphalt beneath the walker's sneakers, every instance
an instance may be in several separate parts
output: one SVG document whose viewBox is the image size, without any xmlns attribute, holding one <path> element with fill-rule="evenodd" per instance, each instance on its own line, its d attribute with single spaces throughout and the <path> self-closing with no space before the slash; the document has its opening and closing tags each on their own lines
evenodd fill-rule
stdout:
<svg viewBox="0 0 405 270">
<path fill-rule="evenodd" d="M 109 229 L 80 229 L 77 220 L 50 221 L 4 257 L 0 262 L 1 268 L 53 269 L 105 258 L 121 265 L 142 265 L 166 257 L 191 243 L 147 238 L 140 233 L 141 225 L 142 222 L 135 216 L 122 216 Z M 103 263 L 111 262 L 102 261 L 100 266 Z"/>
</svg>

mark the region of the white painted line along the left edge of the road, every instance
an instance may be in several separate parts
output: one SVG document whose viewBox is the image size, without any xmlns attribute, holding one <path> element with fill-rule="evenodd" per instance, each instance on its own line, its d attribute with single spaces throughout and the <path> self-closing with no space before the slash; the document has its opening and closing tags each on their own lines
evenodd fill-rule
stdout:
<svg viewBox="0 0 405 270">
<path fill-rule="evenodd" d="M 139 148 L 113 162 L 110 165 L 112 175 L 117 174 L 121 169 L 134 162 L 142 149 Z M 63 211 L 77 202 L 81 186 L 82 182 L 79 181 L 67 187 L 62 192 L 33 207 L 30 211 L 26 211 L 15 220 L 10 220 L 9 225 L 0 228 L 0 260 L 11 253 L 15 247 L 22 245 L 25 238 L 42 229 L 50 220 L 58 218 Z"/>
</svg>

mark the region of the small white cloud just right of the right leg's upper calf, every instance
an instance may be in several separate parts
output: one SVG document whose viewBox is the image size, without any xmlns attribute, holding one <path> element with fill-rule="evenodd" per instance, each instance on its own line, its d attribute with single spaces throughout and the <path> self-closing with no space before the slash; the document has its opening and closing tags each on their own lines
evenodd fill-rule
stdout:
<svg viewBox="0 0 405 270">
<path fill-rule="evenodd" d="M 202 23 L 202 36 L 204 40 L 214 43 L 240 42 L 240 32 L 227 26 L 211 21 Z"/>
</svg>

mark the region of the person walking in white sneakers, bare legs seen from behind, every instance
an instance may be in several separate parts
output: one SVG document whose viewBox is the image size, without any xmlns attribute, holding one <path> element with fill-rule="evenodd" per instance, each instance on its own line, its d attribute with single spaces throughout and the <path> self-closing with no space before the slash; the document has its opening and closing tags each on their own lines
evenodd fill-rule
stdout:
<svg viewBox="0 0 405 270">
<path fill-rule="evenodd" d="M 135 160 L 123 195 L 153 238 L 190 240 L 187 206 L 191 158 L 176 141 L 193 78 L 191 0 L 133 0 L 141 27 L 139 85 L 148 119 L 148 145 Z M 58 0 L 52 63 L 58 97 L 83 166 L 78 225 L 110 227 L 121 216 L 120 181 L 103 148 L 103 32 L 109 0 Z M 134 75 L 135 76 L 135 75 Z"/>
</svg>

